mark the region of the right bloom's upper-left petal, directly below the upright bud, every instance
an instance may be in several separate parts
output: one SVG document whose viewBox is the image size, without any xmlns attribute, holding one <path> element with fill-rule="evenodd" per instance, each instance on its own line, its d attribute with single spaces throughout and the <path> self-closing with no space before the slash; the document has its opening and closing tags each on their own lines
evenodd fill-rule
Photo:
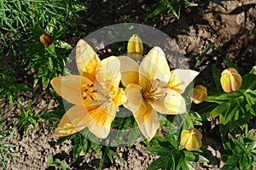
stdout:
<svg viewBox="0 0 256 170">
<path fill-rule="evenodd" d="M 138 69 L 139 65 L 134 59 L 126 56 L 120 56 L 118 59 L 121 62 L 121 81 L 126 87 L 129 83 L 138 84 Z"/>
</svg>

